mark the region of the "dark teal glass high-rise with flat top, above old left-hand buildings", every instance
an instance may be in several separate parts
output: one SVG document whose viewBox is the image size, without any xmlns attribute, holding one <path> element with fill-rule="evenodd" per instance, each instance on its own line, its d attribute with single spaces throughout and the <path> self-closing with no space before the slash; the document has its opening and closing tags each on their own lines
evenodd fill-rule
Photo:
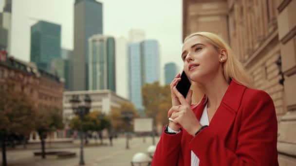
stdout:
<svg viewBox="0 0 296 166">
<path fill-rule="evenodd" d="M 38 21 L 31 27 L 31 62 L 38 68 L 51 70 L 55 58 L 61 58 L 61 26 Z"/>
</svg>

